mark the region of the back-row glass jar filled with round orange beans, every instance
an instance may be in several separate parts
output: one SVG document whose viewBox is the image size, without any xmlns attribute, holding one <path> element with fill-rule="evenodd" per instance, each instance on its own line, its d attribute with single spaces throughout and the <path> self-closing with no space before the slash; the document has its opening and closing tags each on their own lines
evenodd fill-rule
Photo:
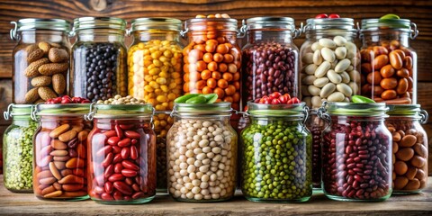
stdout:
<svg viewBox="0 0 432 216">
<path fill-rule="evenodd" d="M 237 44 L 237 20 L 195 18 L 185 22 L 189 44 L 183 49 L 185 94 L 218 94 L 217 102 L 241 108 L 241 51 Z M 239 116 L 232 115 L 237 128 Z"/>
</svg>

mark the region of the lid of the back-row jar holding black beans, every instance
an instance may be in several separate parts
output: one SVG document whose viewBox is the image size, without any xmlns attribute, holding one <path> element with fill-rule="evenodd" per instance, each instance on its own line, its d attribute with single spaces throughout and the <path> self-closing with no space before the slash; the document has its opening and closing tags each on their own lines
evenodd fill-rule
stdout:
<svg viewBox="0 0 432 216">
<path fill-rule="evenodd" d="M 126 31 L 126 21 L 116 17 L 80 17 L 74 20 L 73 31 L 112 29 Z"/>
</svg>

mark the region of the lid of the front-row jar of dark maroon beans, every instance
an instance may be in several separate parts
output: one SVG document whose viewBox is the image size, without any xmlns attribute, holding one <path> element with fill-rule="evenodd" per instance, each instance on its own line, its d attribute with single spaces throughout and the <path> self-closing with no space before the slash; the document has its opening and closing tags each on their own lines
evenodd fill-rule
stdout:
<svg viewBox="0 0 432 216">
<path fill-rule="evenodd" d="M 388 117 L 385 103 L 336 103 L 324 102 L 318 114 L 323 112 L 338 116 Z"/>
</svg>

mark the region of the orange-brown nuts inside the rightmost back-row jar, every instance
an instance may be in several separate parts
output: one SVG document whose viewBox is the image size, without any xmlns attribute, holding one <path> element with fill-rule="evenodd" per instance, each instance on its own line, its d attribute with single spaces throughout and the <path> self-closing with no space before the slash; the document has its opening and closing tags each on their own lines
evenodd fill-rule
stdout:
<svg viewBox="0 0 432 216">
<path fill-rule="evenodd" d="M 362 94 L 375 102 L 412 103 L 416 55 L 397 40 L 361 50 Z"/>
</svg>

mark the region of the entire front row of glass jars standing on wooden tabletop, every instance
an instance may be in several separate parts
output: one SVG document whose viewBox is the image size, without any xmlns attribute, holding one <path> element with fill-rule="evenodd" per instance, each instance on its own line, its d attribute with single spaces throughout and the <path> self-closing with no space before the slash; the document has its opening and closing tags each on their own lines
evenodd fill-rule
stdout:
<svg viewBox="0 0 432 216">
<path fill-rule="evenodd" d="M 240 158 L 230 103 L 175 105 L 163 171 L 175 200 L 228 200 L 237 181 L 251 201 L 310 199 L 317 133 L 305 122 L 316 119 L 305 103 L 247 105 Z M 148 202 L 157 193 L 151 104 L 12 104 L 4 116 L 14 118 L 4 132 L 7 189 L 103 203 Z M 330 102 L 318 116 L 329 123 L 318 176 L 329 198 L 382 201 L 426 187 L 428 139 L 420 123 L 428 114 L 419 105 Z"/>
</svg>

